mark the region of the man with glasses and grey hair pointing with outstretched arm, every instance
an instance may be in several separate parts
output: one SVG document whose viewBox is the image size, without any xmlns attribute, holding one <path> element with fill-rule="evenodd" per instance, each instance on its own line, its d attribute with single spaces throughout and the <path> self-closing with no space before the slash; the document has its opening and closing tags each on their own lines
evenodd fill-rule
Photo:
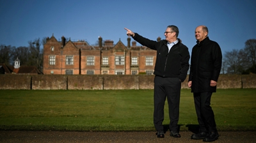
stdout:
<svg viewBox="0 0 256 143">
<path fill-rule="evenodd" d="M 189 69 L 188 47 L 177 38 L 177 26 L 168 26 L 164 32 L 165 40 L 152 41 L 127 30 L 127 35 L 150 49 L 157 50 L 154 70 L 154 126 L 157 137 L 164 137 L 164 102 L 168 100 L 170 135 L 180 137 L 178 132 L 181 82 L 186 79 Z"/>
</svg>

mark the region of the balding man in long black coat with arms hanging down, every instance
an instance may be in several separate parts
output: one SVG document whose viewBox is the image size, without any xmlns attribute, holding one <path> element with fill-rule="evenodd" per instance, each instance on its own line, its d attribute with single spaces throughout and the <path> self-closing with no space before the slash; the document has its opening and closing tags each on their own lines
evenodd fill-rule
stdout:
<svg viewBox="0 0 256 143">
<path fill-rule="evenodd" d="M 222 54 L 218 43 L 209 39 L 206 26 L 196 27 L 195 37 L 197 41 L 191 53 L 188 86 L 191 87 L 194 95 L 200 129 L 199 133 L 191 135 L 191 139 L 204 139 L 205 142 L 211 142 L 219 137 L 214 112 L 210 105 L 212 93 L 216 92 Z"/>
</svg>

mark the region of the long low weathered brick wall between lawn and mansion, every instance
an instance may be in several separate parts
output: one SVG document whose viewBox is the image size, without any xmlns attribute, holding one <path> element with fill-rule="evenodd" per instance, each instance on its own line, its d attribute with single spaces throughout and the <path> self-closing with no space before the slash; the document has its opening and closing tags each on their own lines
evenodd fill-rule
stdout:
<svg viewBox="0 0 256 143">
<path fill-rule="evenodd" d="M 256 74 L 220 75 L 218 89 L 256 88 Z M 188 76 L 181 84 L 189 89 Z M 154 75 L 0 75 L 0 89 L 154 89 Z"/>
</svg>

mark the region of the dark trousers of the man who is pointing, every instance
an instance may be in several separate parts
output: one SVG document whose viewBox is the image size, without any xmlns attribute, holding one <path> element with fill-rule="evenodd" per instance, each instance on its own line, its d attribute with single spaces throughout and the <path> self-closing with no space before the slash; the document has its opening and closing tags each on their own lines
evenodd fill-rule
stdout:
<svg viewBox="0 0 256 143">
<path fill-rule="evenodd" d="M 154 79 L 154 126 L 157 131 L 164 130 L 164 102 L 167 97 L 170 124 L 169 129 L 178 132 L 179 105 L 180 105 L 179 78 L 158 77 Z"/>
</svg>

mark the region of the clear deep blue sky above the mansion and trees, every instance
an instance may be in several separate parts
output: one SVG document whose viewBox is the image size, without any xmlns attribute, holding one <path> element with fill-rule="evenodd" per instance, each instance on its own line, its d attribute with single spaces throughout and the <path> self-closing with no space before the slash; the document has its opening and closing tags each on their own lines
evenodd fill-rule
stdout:
<svg viewBox="0 0 256 143">
<path fill-rule="evenodd" d="M 256 38 L 255 0 L 0 0 L 0 45 L 28 46 L 36 38 L 121 40 L 124 27 L 150 40 L 164 39 L 168 25 L 179 27 L 179 38 L 189 52 L 195 28 L 205 25 L 209 38 L 223 50 L 243 49 Z"/>
</svg>

